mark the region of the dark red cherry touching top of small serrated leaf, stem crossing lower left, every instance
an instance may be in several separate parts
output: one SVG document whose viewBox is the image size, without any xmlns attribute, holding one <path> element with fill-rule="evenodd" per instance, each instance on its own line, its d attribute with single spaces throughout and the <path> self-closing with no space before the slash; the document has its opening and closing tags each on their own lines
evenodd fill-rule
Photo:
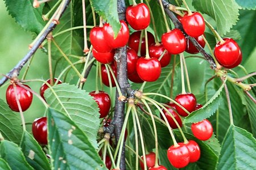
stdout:
<svg viewBox="0 0 256 170">
<path fill-rule="evenodd" d="M 175 97 L 175 101 L 182 105 L 189 113 L 195 111 L 196 108 L 196 97 L 195 95 L 188 94 L 179 94 Z M 180 114 L 180 116 L 188 116 L 188 113 L 183 111 L 178 105 L 176 105 L 176 111 Z"/>
</svg>

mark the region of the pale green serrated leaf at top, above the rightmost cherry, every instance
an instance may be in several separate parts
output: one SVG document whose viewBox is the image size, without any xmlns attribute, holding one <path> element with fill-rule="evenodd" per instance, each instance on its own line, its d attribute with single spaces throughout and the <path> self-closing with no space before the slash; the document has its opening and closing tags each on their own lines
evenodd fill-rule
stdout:
<svg viewBox="0 0 256 170">
<path fill-rule="evenodd" d="M 230 31 L 238 20 L 240 6 L 235 0 L 193 0 L 196 10 L 212 17 L 221 36 Z"/>
</svg>

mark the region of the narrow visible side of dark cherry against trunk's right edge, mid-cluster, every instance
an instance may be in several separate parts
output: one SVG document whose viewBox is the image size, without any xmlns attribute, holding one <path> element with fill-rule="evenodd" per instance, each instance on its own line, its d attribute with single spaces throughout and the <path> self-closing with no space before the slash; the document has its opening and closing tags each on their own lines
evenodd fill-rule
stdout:
<svg viewBox="0 0 256 170">
<path fill-rule="evenodd" d="M 138 58 L 139 57 L 135 50 L 127 47 L 127 75 L 131 75 L 136 72 L 136 63 Z"/>
</svg>

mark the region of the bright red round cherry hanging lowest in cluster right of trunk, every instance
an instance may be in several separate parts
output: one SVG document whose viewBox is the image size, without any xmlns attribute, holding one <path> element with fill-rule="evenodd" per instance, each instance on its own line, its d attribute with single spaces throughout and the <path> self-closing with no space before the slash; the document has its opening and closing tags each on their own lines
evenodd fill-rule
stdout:
<svg viewBox="0 0 256 170">
<path fill-rule="evenodd" d="M 141 57 L 136 68 L 139 77 L 146 82 L 154 82 L 161 74 L 161 64 L 156 58 Z"/>
</svg>

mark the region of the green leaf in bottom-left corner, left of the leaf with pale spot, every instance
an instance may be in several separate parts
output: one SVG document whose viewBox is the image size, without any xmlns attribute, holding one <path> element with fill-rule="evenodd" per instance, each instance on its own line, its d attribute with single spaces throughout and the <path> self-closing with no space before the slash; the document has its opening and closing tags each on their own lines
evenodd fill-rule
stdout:
<svg viewBox="0 0 256 170">
<path fill-rule="evenodd" d="M 13 142 L 3 140 L 0 144 L 0 155 L 11 167 L 11 169 L 33 169 L 27 162 L 26 159 L 18 147 Z"/>
</svg>

